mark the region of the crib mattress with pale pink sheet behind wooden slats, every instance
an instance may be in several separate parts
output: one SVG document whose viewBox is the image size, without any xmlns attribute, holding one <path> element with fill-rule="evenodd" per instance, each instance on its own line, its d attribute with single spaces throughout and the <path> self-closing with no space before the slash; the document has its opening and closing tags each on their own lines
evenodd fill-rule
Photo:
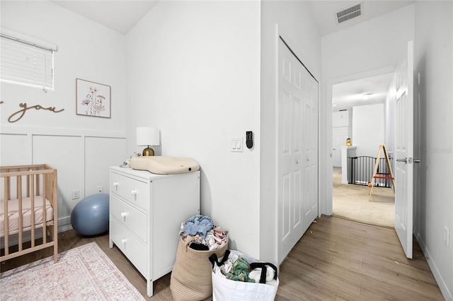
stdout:
<svg viewBox="0 0 453 301">
<path fill-rule="evenodd" d="M 53 219 L 53 208 L 49 200 L 45 200 L 46 207 L 46 220 Z M 5 235 L 5 216 L 4 216 L 4 201 L 0 201 L 0 237 Z M 30 230 L 31 228 L 31 198 L 22 199 L 22 213 L 23 213 L 23 229 Z M 35 196 L 35 228 L 42 227 L 42 196 Z M 8 201 L 8 233 L 15 234 L 19 229 L 19 200 L 13 199 Z"/>
</svg>

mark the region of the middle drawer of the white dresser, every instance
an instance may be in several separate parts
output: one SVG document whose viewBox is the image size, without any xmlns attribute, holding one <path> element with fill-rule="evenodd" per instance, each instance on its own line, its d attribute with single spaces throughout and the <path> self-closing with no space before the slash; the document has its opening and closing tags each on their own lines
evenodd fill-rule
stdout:
<svg viewBox="0 0 453 301">
<path fill-rule="evenodd" d="M 110 198 L 110 214 L 147 243 L 147 216 L 116 196 Z"/>
</svg>

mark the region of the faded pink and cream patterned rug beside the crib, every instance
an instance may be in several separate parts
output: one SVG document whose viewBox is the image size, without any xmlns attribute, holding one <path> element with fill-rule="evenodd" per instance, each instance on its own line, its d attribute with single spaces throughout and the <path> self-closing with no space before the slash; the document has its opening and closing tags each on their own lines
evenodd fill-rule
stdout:
<svg viewBox="0 0 453 301">
<path fill-rule="evenodd" d="M 144 300 L 96 242 L 0 273 L 0 300 Z"/>
</svg>

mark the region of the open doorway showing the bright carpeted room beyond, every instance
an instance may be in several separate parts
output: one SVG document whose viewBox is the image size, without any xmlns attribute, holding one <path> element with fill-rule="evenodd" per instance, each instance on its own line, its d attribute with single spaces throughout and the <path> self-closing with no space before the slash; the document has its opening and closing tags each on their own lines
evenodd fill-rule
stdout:
<svg viewBox="0 0 453 301">
<path fill-rule="evenodd" d="M 393 189 L 373 187 L 369 201 L 367 181 L 371 180 L 374 163 L 360 171 L 366 178 L 362 184 L 352 184 L 350 165 L 351 158 L 376 158 L 379 146 L 389 144 L 393 170 L 392 85 L 394 71 L 379 71 L 332 85 L 333 216 L 394 228 Z"/>
</svg>

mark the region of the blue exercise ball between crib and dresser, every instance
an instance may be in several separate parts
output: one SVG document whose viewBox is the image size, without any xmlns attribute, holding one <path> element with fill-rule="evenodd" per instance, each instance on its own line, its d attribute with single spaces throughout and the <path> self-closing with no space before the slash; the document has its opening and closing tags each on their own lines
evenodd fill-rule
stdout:
<svg viewBox="0 0 453 301">
<path fill-rule="evenodd" d="M 81 235 L 108 231 L 108 194 L 93 194 L 79 201 L 71 212 L 71 225 Z"/>
</svg>

